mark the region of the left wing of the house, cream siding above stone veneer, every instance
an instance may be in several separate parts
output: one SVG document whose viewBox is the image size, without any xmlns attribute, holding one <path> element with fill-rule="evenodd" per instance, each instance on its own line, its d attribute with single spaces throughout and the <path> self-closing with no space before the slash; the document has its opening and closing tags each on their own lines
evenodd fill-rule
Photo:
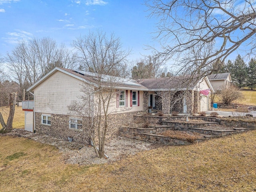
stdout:
<svg viewBox="0 0 256 192">
<path fill-rule="evenodd" d="M 35 131 L 67 140 L 73 138 L 76 142 L 90 144 L 88 134 L 80 129 L 81 120 L 71 115 L 68 110 L 75 100 L 83 101 L 81 96 L 83 86 L 93 85 L 95 77 L 92 73 L 65 68 L 54 68 L 36 84 L 28 89 L 34 91 Z M 106 85 L 107 86 L 107 85 Z M 136 81 L 124 80 L 116 87 L 110 103 L 109 128 L 106 139 L 118 135 L 119 127 L 132 120 L 134 114 L 143 112 L 143 95 L 148 89 Z"/>
</svg>

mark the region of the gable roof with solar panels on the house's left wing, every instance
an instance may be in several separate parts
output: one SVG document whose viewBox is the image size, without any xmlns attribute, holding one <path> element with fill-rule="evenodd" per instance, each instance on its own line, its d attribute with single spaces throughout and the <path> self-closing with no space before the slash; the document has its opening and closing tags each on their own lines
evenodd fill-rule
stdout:
<svg viewBox="0 0 256 192">
<path fill-rule="evenodd" d="M 56 67 L 52 71 L 50 71 L 48 74 L 46 74 L 43 78 L 41 78 L 38 82 L 36 82 L 34 85 L 32 85 L 30 88 L 28 88 L 28 91 L 31 91 L 34 88 L 36 88 L 38 85 L 40 85 L 48 77 L 50 77 L 52 74 L 54 74 L 57 71 L 63 72 L 67 75 L 70 75 L 74 78 L 77 78 L 83 82 L 86 82 L 88 84 L 91 84 L 91 85 L 97 87 L 98 76 L 95 73 Z M 106 87 L 109 86 L 110 78 L 114 78 L 114 77 L 111 77 L 108 75 L 102 75 L 101 76 L 102 85 L 106 86 Z M 125 79 L 125 78 L 116 77 L 116 81 L 117 81 L 117 86 L 115 88 L 117 88 L 117 89 L 148 90 L 148 88 L 142 86 L 135 80 L 129 80 L 129 79 Z"/>
</svg>

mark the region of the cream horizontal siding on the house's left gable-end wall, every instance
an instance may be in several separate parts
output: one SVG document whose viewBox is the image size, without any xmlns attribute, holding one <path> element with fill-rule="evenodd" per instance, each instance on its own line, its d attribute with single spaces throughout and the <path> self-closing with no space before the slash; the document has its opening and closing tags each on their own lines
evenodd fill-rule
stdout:
<svg viewBox="0 0 256 192">
<path fill-rule="evenodd" d="M 35 112 L 49 114 L 70 114 L 68 106 L 74 100 L 82 101 L 83 82 L 57 71 L 34 89 Z"/>
</svg>

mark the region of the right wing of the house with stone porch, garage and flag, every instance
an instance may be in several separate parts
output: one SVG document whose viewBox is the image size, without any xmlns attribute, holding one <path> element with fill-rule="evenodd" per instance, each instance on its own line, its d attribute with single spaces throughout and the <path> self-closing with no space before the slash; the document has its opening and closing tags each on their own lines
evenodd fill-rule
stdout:
<svg viewBox="0 0 256 192">
<path fill-rule="evenodd" d="M 209 95 L 214 92 L 208 77 L 191 80 L 190 76 L 138 80 L 149 90 L 148 106 L 162 110 L 194 114 L 209 110 Z M 207 94 L 200 93 L 207 90 Z M 208 94 L 209 93 L 209 94 Z"/>
</svg>

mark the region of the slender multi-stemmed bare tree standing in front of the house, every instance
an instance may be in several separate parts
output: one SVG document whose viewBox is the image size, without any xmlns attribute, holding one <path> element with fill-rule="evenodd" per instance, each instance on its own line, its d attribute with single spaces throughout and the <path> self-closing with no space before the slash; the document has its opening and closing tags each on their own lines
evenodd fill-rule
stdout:
<svg viewBox="0 0 256 192">
<path fill-rule="evenodd" d="M 116 86 L 127 74 L 126 57 L 129 51 L 122 49 L 120 39 L 114 34 L 108 38 L 101 31 L 80 36 L 73 46 L 78 50 L 83 68 L 90 73 L 94 84 L 84 84 L 82 102 L 69 106 L 72 114 L 84 121 L 84 130 L 90 135 L 95 153 L 104 156 L 106 133 L 110 126 L 110 105 L 116 96 Z M 96 146 L 98 144 L 98 147 Z"/>
</svg>

